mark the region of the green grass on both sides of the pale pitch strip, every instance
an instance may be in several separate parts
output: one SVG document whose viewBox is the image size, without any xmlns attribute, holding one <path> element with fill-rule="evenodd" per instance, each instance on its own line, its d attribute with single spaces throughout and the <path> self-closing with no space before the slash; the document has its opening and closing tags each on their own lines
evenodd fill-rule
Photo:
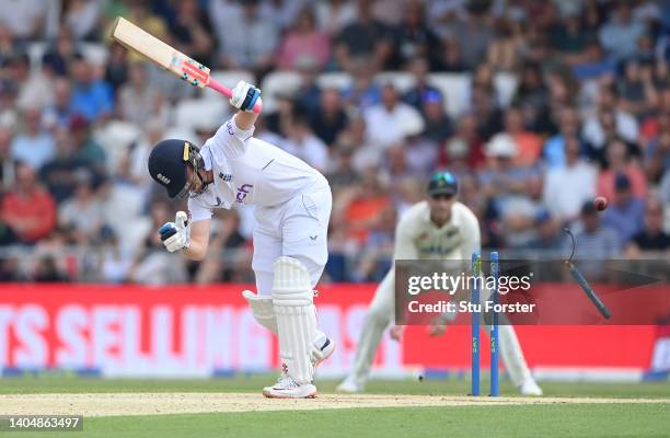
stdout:
<svg viewBox="0 0 670 438">
<path fill-rule="evenodd" d="M 101 380 L 62 376 L 0 379 L 0 393 L 46 392 L 258 392 L 273 376 L 213 380 Z M 321 381 L 321 392 L 337 382 Z M 372 381 L 369 392 L 450 394 L 467 392 L 465 380 Z M 670 383 L 542 384 L 548 396 L 670 397 Z M 488 388 L 483 382 L 483 389 Z M 517 395 L 509 382 L 504 395 Z M 258 395 L 261 396 L 261 395 Z M 1 411 L 1 406 L 0 406 Z M 2 436 L 45 437 L 18 433 Z M 85 418 L 72 437 L 668 437 L 670 404 L 536 404 L 282 411 Z"/>
</svg>

